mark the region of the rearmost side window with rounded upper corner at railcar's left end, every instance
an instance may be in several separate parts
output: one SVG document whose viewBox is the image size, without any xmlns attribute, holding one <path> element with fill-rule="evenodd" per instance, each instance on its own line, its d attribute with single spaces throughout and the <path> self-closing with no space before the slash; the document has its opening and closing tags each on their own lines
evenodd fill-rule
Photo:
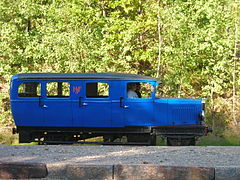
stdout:
<svg viewBox="0 0 240 180">
<path fill-rule="evenodd" d="M 19 97 L 39 97 L 41 95 L 41 85 L 38 82 L 26 82 L 18 87 Z"/>
</svg>

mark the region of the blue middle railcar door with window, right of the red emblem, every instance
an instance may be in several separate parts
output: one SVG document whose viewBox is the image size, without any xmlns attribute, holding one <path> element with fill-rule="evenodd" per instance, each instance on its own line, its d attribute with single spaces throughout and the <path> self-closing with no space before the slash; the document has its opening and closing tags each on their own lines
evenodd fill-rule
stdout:
<svg viewBox="0 0 240 180">
<path fill-rule="evenodd" d="M 83 96 L 79 97 L 77 112 L 82 116 L 83 127 L 110 127 L 111 100 L 108 81 L 89 80 L 83 86 Z"/>
</svg>

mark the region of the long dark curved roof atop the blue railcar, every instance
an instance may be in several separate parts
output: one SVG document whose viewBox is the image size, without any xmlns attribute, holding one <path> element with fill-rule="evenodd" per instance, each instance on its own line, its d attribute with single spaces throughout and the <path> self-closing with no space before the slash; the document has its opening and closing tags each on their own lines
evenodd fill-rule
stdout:
<svg viewBox="0 0 240 180">
<path fill-rule="evenodd" d="M 117 80 L 152 80 L 156 78 L 127 73 L 24 73 L 17 74 L 18 79 L 117 79 Z"/>
</svg>

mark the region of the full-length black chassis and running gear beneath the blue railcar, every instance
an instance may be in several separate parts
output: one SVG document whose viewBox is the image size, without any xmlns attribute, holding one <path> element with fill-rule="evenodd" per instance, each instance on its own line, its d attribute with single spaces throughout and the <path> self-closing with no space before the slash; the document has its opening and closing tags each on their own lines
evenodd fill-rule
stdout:
<svg viewBox="0 0 240 180">
<path fill-rule="evenodd" d="M 195 145 L 198 137 L 205 134 L 204 126 L 190 127 L 126 127 L 126 128 L 55 128 L 18 127 L 20 143 L 40 144 L 101 144 L 155 146 L 156 137 L 166 139 L 169 146 Z M 101 141 L 89 141 L 102 137 Z M 96 138 L 97 139 L 97 138 Z"/>
</svg>

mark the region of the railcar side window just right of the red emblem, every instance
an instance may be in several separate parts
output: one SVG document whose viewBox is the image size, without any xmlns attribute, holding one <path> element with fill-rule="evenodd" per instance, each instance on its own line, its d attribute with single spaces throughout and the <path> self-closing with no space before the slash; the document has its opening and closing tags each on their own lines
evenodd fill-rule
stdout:
<svg viewBox="0 0 240 180">
<path fill-rule="evenodd" d="M 87 98 L 108 98 L 109 84 L 96 82 L 86 83 L 86 97 Z"/>
</svg>

